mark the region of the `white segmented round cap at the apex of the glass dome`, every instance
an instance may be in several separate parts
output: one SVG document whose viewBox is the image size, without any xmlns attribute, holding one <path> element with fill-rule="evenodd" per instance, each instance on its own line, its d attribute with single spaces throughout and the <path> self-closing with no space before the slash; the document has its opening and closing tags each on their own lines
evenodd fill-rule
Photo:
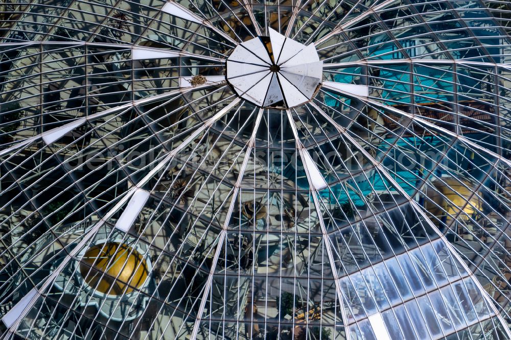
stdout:
<svg viewBox="0 0 511 340">
<path fill-rule="evenodd" d="M 241 98 L 261 107 L 290 108 L 308 102 L 323 71 L 315 45 L 269 32 L 269 37 L 236 47 L 227 59 L 227 81 Z"/>
</svg>

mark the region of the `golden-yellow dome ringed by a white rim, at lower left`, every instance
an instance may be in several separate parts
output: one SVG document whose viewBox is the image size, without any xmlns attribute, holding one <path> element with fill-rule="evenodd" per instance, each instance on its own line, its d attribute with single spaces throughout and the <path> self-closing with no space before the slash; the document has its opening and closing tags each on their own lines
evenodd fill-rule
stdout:
<svg viewBox="0 0 511 340">
<path fill-rule="evenodd" d="M 108 295 L 121 295 L 140 288 L 149 274 L 144 257 L 117 242 L 90 247 L 81 259 L 80 273 L 89 286 Z"/>
</svg>

